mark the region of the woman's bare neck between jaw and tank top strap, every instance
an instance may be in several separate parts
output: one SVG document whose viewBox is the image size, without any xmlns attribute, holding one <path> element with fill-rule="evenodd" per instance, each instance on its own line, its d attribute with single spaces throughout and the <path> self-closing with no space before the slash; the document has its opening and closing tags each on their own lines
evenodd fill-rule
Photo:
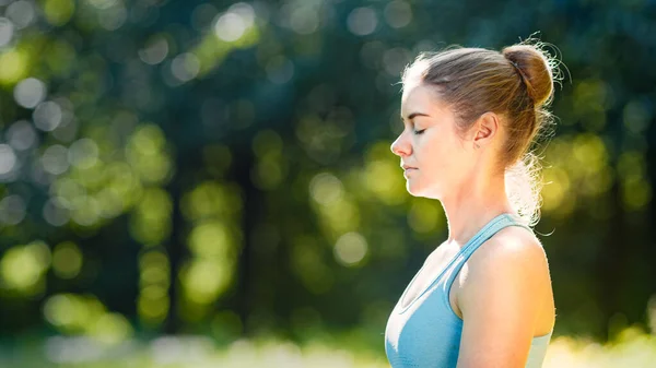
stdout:
<svg viewBox="0 0 656 368">
<path fill-rule="evenodd" d="M 514 213 L 505 193 L 504 175 L 469 178 L 441 200 L 448 224 L 447 242 L 462 247 L 492 218 Z"/>
</svg>

